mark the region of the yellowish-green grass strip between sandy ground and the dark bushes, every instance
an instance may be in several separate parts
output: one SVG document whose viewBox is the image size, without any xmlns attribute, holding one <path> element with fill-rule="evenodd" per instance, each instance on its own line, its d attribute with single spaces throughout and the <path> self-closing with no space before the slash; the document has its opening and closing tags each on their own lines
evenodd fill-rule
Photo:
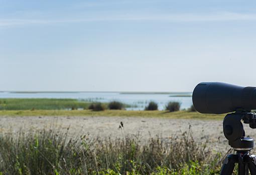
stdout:
<svg viewBox="0 0 256 175">
<path fill-rule="evenodd" d="M 123 117 L 167 117 L 182 119 L 219 119 L 225 114 L 201 114 L 189 111 L 126 111 L 126 110 L 0 110 L 0 116 L 123 116 Z"/>
</svg>

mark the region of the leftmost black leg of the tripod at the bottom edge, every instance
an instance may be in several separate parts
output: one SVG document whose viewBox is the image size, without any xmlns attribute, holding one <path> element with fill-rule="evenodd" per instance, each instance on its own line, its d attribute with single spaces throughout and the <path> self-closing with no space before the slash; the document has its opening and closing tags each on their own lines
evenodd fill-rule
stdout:
<svg viewBox="0 0 256 175">
<path fill-rule="evenodd" d="M 229 154 L 223 161 L 223 165 L 220 171 L 220 175 L 231 175 L 234 170 L 234 163 L 238 161 L 238 156 L 235 154 Z"/>
</svg>

